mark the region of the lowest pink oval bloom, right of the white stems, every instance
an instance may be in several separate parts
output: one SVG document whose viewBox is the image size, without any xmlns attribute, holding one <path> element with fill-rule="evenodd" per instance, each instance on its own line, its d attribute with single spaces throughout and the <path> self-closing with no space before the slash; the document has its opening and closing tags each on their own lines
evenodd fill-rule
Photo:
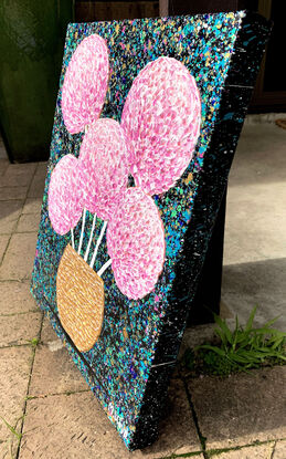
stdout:
<svg viewBox="0 0 286 459">
<path fill-rule="evenodd" d="M 165 261 L 165 231 L 156 204 L 140 188 L 123 192 L 107 226 L 107 249 L 125 295 L 137 300 L 153 290 Z"/>
</svg>

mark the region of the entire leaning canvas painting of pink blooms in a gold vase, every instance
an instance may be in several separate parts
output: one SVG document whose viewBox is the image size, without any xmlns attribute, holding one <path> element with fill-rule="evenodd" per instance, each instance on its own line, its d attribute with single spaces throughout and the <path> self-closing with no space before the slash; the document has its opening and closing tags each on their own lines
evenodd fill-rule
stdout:
<svg viewBox="0 0 286 459">
<path fill-rule="evenodd" d="M 243 11 L 67 29 L 31 290 L 130 450 L 157 435 L 268 32 Z"/>
</svg>

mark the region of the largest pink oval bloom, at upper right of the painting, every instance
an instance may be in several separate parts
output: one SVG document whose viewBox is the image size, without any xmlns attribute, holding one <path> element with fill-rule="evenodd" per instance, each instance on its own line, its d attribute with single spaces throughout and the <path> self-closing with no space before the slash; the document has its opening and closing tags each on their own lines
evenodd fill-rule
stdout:
<svg viewBox="0 0 286 459">
<path fill-rule="evenodd" d="M 188 69 L 165 56 L 147 64 L 121 115 L 137 186 L 156 195 L 176 184 L 193 156 L 200 121 L 200 94 Z"/>
</svg>

